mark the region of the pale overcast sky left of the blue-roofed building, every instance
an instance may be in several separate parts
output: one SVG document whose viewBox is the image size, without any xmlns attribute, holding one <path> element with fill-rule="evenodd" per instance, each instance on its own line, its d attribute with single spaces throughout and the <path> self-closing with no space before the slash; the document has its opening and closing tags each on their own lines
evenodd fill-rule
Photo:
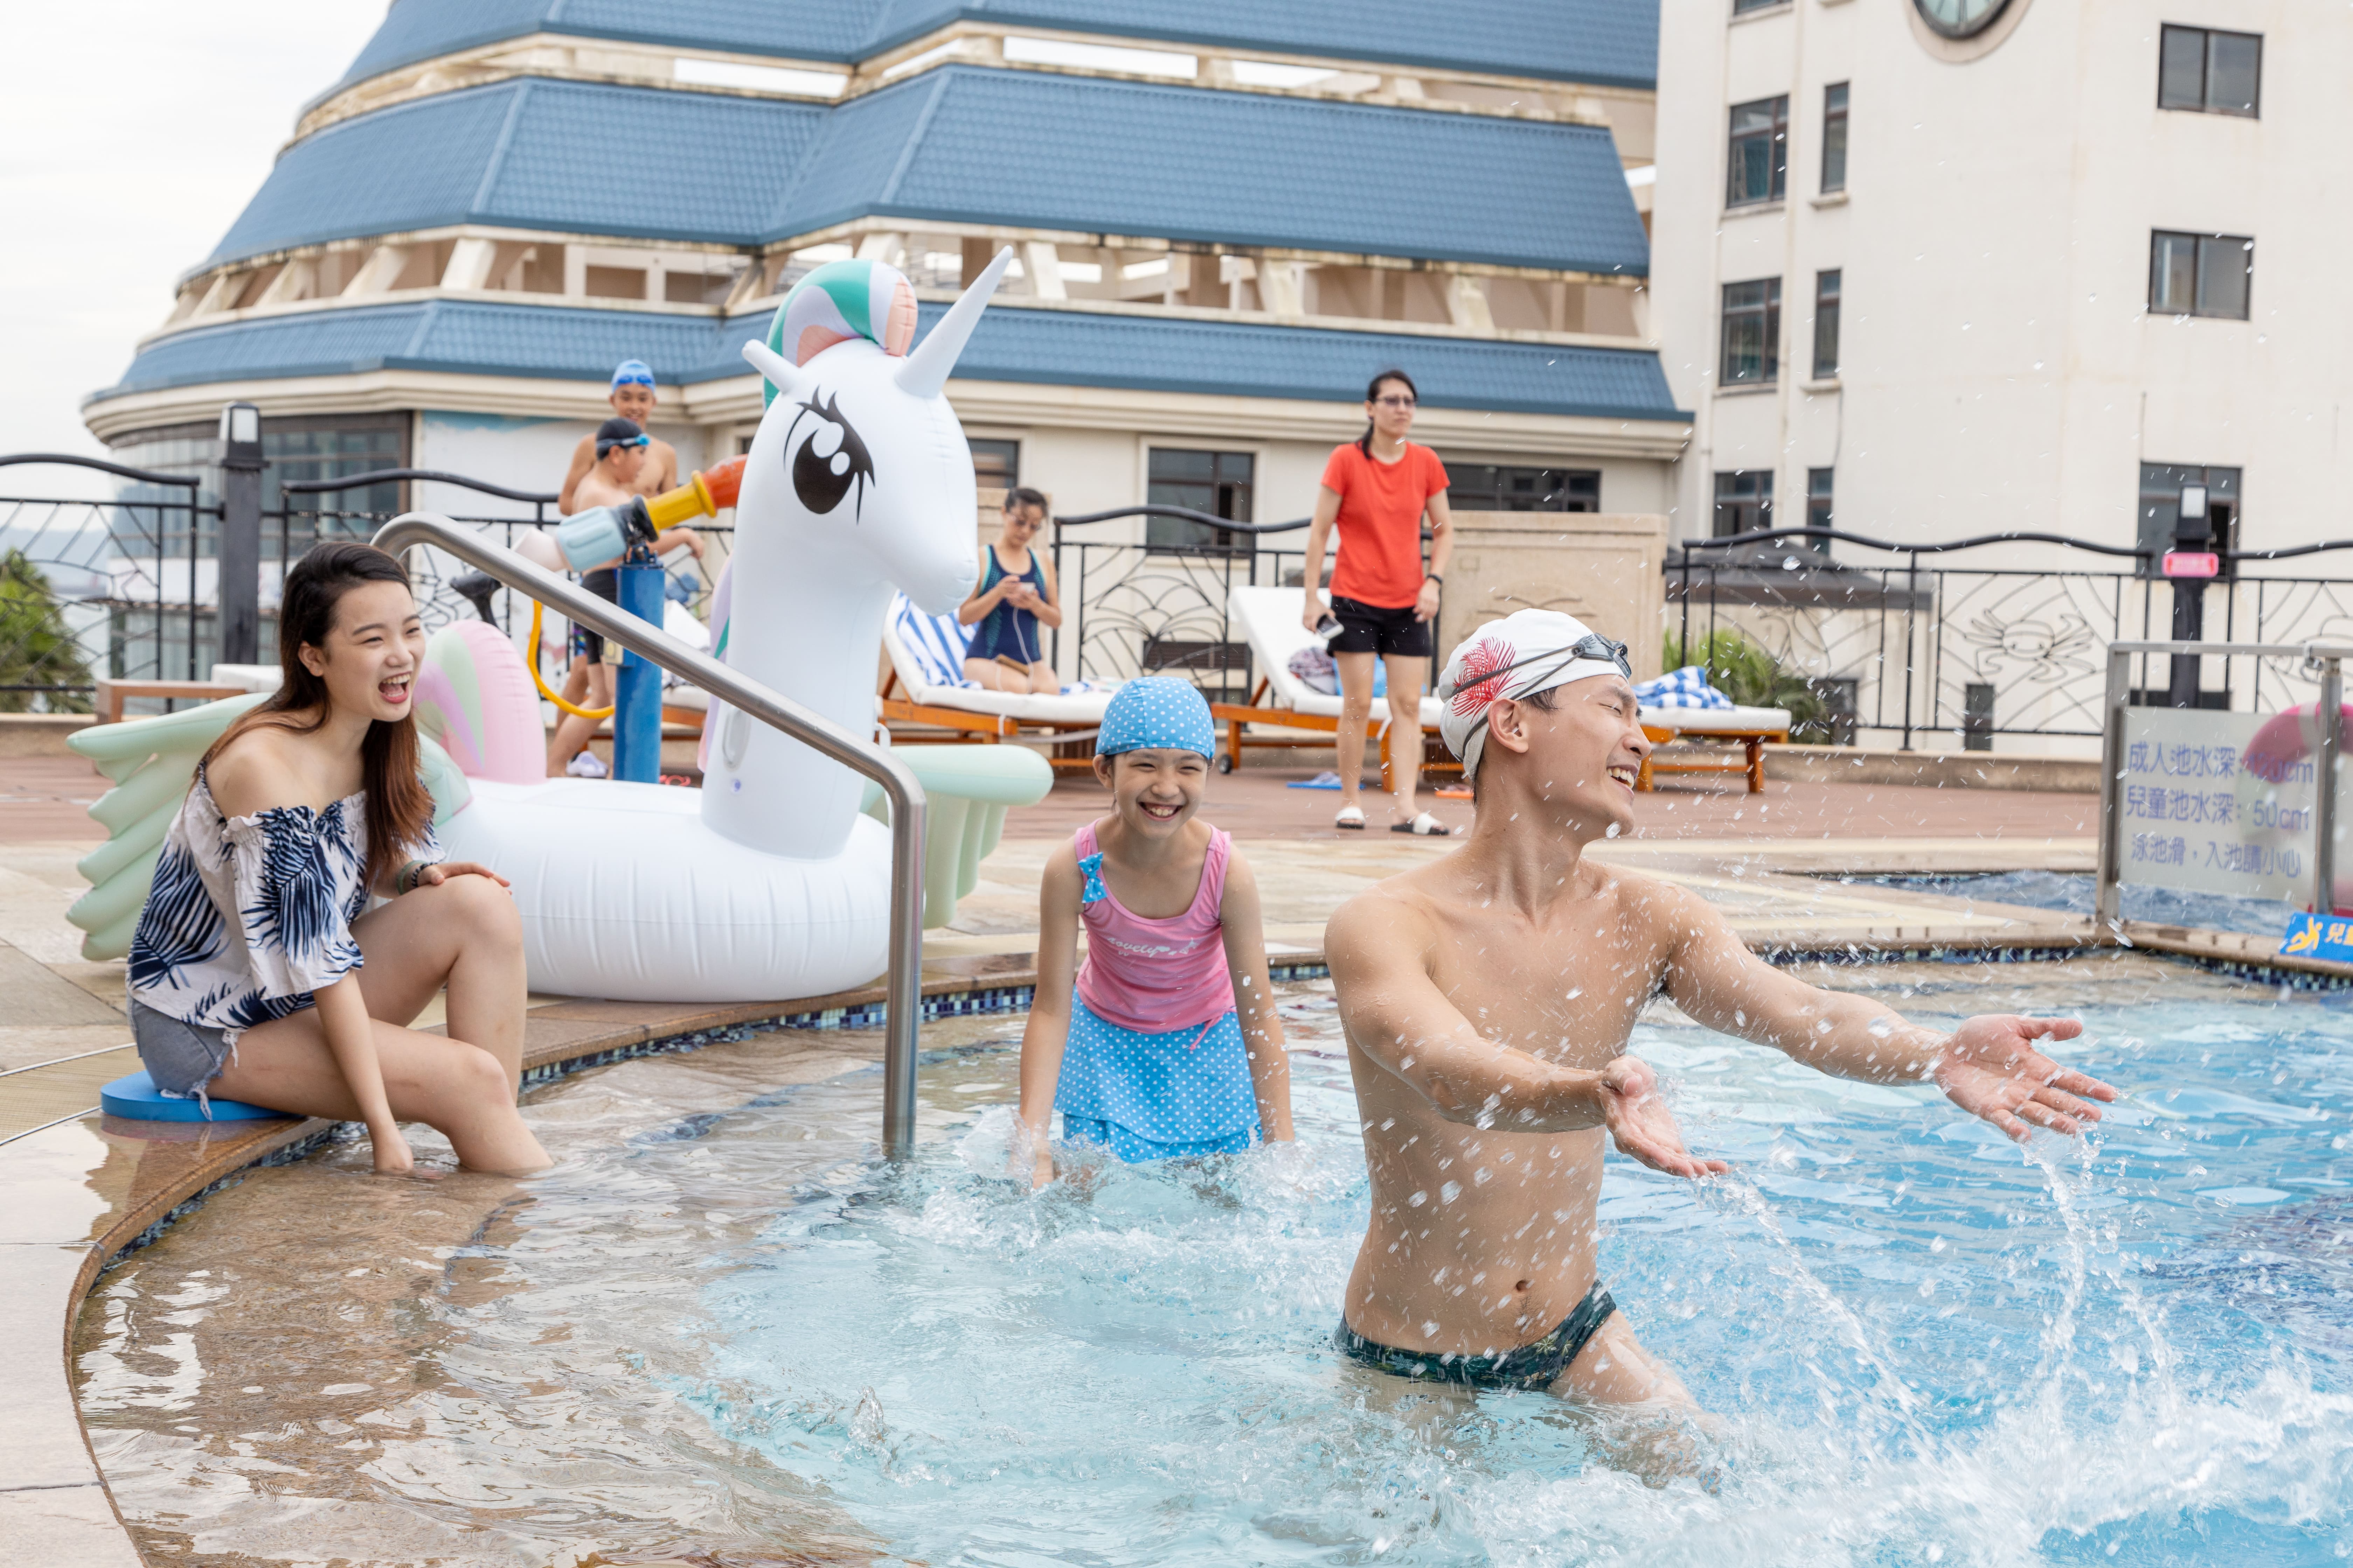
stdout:
<svg viewBox="0 0 2353 1568">
<path fill-rule="evenodd" d="M 66 0 L 7 14 L 0 451 L 101 456 L 82 397 L 113 386 L 162 324 L 179 275 L 228 230 L 384 0 Z M 68 470 L 35 473 L 38 494 L 68 494 L 49 482 Z"/>
</svg>

